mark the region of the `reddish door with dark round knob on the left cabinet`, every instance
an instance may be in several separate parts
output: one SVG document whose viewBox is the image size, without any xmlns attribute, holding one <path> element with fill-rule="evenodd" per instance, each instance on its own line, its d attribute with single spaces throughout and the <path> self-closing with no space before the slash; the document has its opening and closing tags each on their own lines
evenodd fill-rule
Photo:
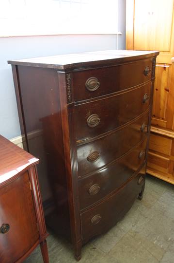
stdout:
<svg viewBox="0 0 174 263">
<path fill-rule="evenodd" d="M 0 233 L 0 263 L 16 262 L 39 240 L 27 171 L 0 189 L 0 227 L 4 224 L 7 232 Z"/>
</svg>

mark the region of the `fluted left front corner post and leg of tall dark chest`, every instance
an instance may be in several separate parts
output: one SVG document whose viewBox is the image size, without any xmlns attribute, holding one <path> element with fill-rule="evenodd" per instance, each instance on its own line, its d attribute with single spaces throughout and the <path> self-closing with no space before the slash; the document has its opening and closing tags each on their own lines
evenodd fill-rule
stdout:
<svg viewBox="0 0 174 263">
<path fill-rule="evenodd" d="M 66 176 L 69 200 L 69 212 L 71 223 L 71 241 L 75 249 L 75 258 L 79 261 L 81 258 L 81 228 L 79 218 L 79 192 L 78 192 L 78 166 L 77 150 L 74 140 L 73 114 L 67 109 L 66 105 L 66 79 L 64 73 L 58 73 L 60 95 L 61 95 L 61 114 L 63 119 L 63 146 L 66 163 Z"/>
</svg>

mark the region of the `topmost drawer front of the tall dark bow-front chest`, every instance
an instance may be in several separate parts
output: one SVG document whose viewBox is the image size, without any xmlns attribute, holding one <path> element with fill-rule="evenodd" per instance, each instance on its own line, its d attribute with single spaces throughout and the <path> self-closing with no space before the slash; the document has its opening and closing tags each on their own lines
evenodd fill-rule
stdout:
<svg viewBox="0 0 174 263">
<path fill-rule="evenodd" d="M 111 94 L 151 79 L 152 60 L 73 73 L 74 100 Z"/>
</svg>

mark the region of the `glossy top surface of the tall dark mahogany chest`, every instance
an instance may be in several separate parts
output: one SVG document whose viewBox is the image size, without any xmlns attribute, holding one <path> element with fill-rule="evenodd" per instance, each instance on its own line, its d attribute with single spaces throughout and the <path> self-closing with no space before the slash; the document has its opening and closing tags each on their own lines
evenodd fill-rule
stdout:
<svg viewBox="0 0 174 263">
<path fill-rule="evenodd" d="M 34 57 L 18 60 L 9 60 L 9 64 L 55 68 L 59 70 L 71 70 L 84 67 L 97 67 L 99 65 L 113 65 L 142 58 L 158 56 L 157 51 L 130 51 L 130 50 L 105 50 L 96 52 L 84 52 L 58 56 Z"/>
</svg>

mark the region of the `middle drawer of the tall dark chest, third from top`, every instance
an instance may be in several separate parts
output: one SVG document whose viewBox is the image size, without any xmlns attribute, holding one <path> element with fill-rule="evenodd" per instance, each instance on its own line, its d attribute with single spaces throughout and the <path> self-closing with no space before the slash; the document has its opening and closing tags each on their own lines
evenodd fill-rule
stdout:
<svg viewBox="0 0 174 263">
<path fill-rule="evenodd" d="M 120 157 L 146 137 L 145 113 L 127 127 L 78 147 L 78 172 L 83 176 Z"/>
</svg>

